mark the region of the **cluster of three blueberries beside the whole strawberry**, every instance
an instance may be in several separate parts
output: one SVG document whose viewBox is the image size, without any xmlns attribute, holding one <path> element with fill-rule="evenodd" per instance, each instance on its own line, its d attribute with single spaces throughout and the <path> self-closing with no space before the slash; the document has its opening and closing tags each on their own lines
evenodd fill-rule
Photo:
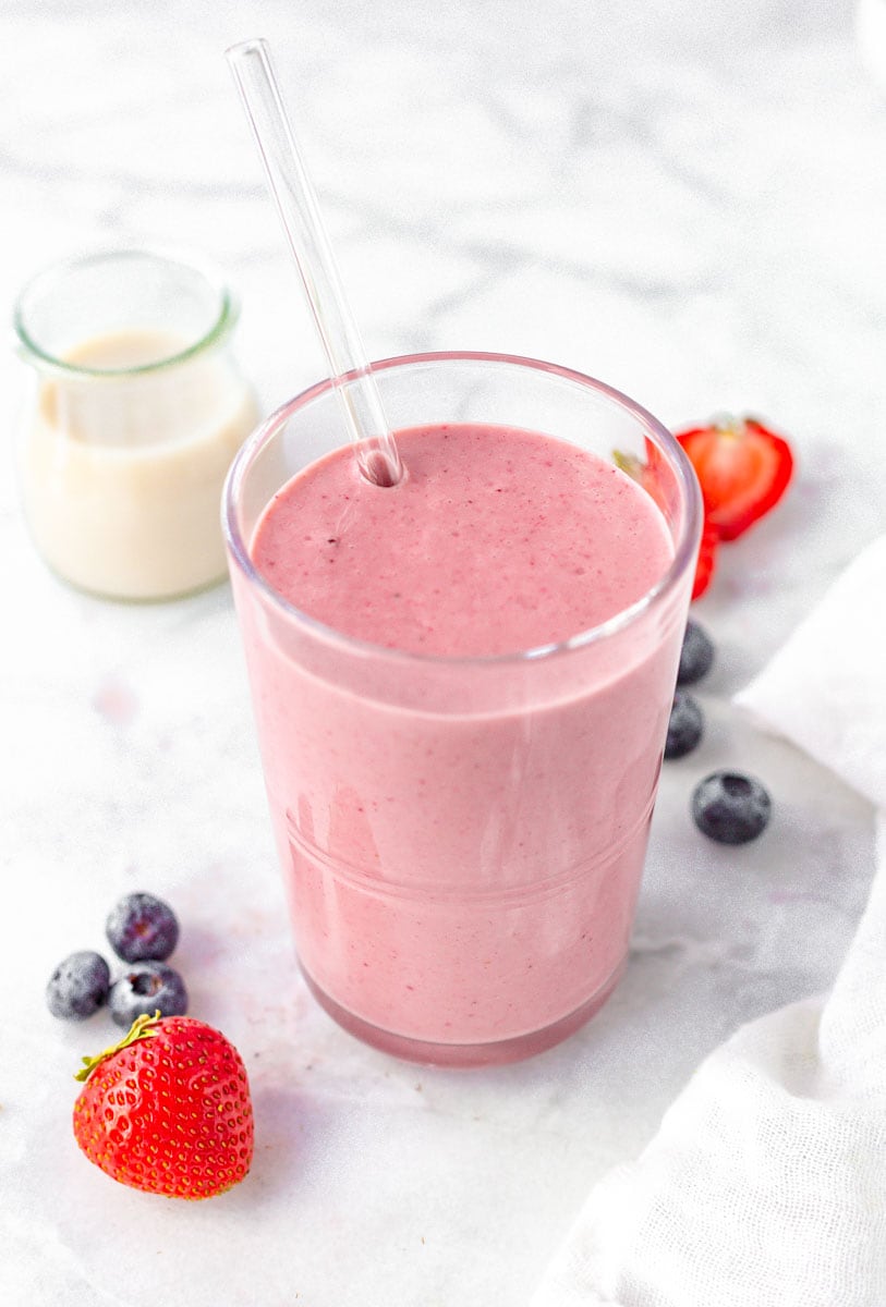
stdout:
<svg viewBox="0 0 886 1307">
<path fill-rule="evenodd" d="M 188 1009 L 182 976 L 166 966 L 179 938 L 179 923 L 169 903 L 153 894 L 127 894 L 105 923 L 107 941 L 125 967 L 111 982 L 111 968 L 101 953 L 82 949 L 55 968 L 46 1001 L 61 1021 L 85 1021 L 106 1004 L 111 1017 L 129 1029 L 136 1017 L 180 1017 Z"/>
</svg>

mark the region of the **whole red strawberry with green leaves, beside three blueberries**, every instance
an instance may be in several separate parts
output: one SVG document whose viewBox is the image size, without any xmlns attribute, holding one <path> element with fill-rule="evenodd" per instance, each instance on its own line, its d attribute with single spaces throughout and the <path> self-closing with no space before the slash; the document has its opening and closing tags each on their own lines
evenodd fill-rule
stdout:
<svg viewBox="0 0 886 1307">
<path fill-rule="evenodd" d="M 137 1017 L 119 1044 L 84 1057 L 73 1129 L 120 1184 L 209 1199 L 252 1161 L 252 1103 L 233 1044 L 191 1017 Z"/>
</svg>

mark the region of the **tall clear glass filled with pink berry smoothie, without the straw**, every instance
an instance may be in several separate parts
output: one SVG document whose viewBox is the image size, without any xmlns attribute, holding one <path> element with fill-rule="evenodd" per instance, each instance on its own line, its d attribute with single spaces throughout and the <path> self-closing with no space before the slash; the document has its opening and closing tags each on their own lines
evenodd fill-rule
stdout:
<svg viewBox="0 0 886 1307">
<path fill-rule="evenodd" d="M 510 1061 L 623 970 L 700 501 L 668 431 L 578 372 L 372 371 L 400 484 L 361 474 L 324 382 L 225 493 L 295 946 L 366 1042 Z"/>
</svg>

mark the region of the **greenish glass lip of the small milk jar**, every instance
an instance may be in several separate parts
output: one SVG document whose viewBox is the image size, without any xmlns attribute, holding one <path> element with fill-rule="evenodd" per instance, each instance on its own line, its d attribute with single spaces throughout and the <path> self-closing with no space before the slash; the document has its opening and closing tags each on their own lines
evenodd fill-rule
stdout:
<svg viewBox="0 0 886 1307">
<path fill-rule="evenodd" d="M 47 281 L 81 268 L 101 267 L 106 263 L 125 261 L 128 259 L 154 260 L 157 263 L 166 264 L 167 267 L 175 265 L 186 269 L 187 272 L 197 273 L 205 285 L 214 293 L 218 302 L 218 310 L 210 327 L 184 349 L 163 354 L 162 358 L 153 359 L 149 363 L 139 363 L 127 367 L 90 367 L 85 363 L 72 363 L 64 358 L 59 358 L 57 354 L 44 349 L 37 342 L 26 324 L 29 301 Z M 25 284 L 25 286 L 22 286 L 18 298 L 16 299 L 13 307 L 13 329 L 18 339 L 21 353 L 27 359 L 38 361 L 43 371 L 51 371 L 59 376 L 69 378 L 123 378 L 141 376 L 145 372 L 156 372 L 161 369 L 187 362 L 204 350 L 220 344 L 233 331 L 238 316 L 239 303 L 225 281 L 221 269 L 217 268 L 210 260 L 166 247 L 132 246 L 112 250 L 97 250 L 85 255 L 73 255 L 69 259 L 61 259 L 57 263 L 52 263 L 47 268 L 37 272 Z"/>
</svg>

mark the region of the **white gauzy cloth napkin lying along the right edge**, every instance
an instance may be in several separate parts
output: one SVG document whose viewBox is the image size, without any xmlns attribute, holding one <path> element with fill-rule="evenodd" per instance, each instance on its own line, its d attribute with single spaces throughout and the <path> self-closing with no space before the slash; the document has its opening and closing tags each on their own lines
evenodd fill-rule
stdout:
<svg viewBox="0 0 886 1307">
<path fill-rule="evenodd" d="M 595 1188 L 532 1307 L 886 1307 L 886 538 L 737 702 L 879 808 L 823 999 L 744 1026 Z"/>
</svg>

